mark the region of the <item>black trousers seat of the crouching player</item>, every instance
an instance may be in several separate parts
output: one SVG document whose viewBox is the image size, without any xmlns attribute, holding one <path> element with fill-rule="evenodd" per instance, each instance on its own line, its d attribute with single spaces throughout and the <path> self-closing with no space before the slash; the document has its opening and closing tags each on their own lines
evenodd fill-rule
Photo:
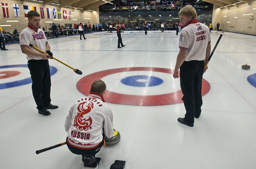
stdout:
<svg viewBox="0 0 256 169">
<path fill-rule="evenodd" d="M 102 135 L 103 135 L 103 139 L 101 141 L 101 144 L 99 144 L 99 146 L 97 146 L 94 149 L 79 149 L 79 148 L 75 148 L 72 145 L 68 144 L 68 141 L 67 141 L 68 137 L 67 137 L 66 138 L 66 142 L 67 142 L 68 149 L 72 153 L 77 154 L 77 155 L 82 155 L 82 156 L 86 156 L 86 157 L 93 156 L 93 155 L 97 154 L 99 152 L 99 150 L 101 150 L 101 147 L 103 146 L 105 135 L 104 134 L 102 134 Z"/>
</svg>

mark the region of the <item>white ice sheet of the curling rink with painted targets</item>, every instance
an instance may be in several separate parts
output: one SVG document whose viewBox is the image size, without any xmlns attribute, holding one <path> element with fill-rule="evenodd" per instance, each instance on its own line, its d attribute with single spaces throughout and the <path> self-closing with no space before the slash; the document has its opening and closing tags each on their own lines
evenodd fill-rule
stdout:
<svg viewBox="0 0 256 169">
<path fill-rule="evenodd" d="M 211 32 L 211 51 L 220 34 Z M 225 32 L 203 75 L 203 106 L 194 127 L 184 117 L 180 79 L 172 77 L 179 51 L 174 31 L 127 31 L 117 48 L 116 32 L 49 39 L 53 56 L 51 99 L 59 109 L 38 114 L 26 55 L 19 44 L 0 51 L 0 168 L 82 169 L 80 155 L 65 142 L 64 122 L 75 101 L 96 79 L 107 86 L 114 129 L 121 141 L 102 147 L 98 169 L 115 160 L 125 169 L 256 168 L 256 36 Z M 251 66 L 243 70 L 243 64 Z M 250 80 L 248 77 L 251 77 Z M 25 80 L 27 79 L 27 81 Z"/>
</svg>

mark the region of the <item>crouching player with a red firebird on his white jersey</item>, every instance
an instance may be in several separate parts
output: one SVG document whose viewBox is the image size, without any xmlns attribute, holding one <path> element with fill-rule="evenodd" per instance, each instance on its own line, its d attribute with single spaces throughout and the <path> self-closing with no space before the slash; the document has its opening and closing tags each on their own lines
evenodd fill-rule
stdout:
<svg viewBox="0 0 256 169">
<path fill-rule="evenodd" d="M 91 84 L 87 97 L 76 101 L 65 121 L 68 149 L 82 155 L 86 165 L 96 162 L 95 154 L 103 145 L 103 139 L 114 135 L 112 110 L 104 101 L 106 84 L 96 80 Z"/>
</svg>

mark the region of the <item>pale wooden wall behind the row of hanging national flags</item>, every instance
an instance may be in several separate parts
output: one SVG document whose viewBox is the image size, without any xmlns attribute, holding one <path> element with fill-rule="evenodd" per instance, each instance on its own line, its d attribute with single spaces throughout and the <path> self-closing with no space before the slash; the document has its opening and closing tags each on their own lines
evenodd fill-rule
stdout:
<svg viewBox="0 0 256 169">
<path fill-rule="evenodd" d="M 55 24 L 60 24 L 60 25 L 65 25 L 65 24 L 71 24 L 72 25 L 74 23 L 80 23 L 82 22 L 87 23 L 87 25 L 89 25 L 88 23 L 90 22 L 91 25 L 93 25 L 93 23 L 99 23 L 99 12 L 98 10 L 96 12 L 91 12 L 91 11 L 84 11 L 83 9 L 76 9 L 76 10 L 72 10 L 72 8 L 69 7 L 64 7 L 61 8 L 61 19 L 63 19 L 63 11 L 62 10 L 67 10 L 71 11 L 71 19 L 69 19 L 69 17 L 67 17 L 67 19 L 63 19 L 63 20 L 53 20 L 53 13 L 52 13 L 52 9 L 60 9 L 59 5 L 54 5 L 51 3 L 45 4 L 45 6 L 43 5 L 42 2 L 37 2 L 37 1 L 32 1 L 32 0 L 25 0 L 23 1 L 23 4 L 20 0 L 3 0 L 1 1 L 3 3 L 8 3 L 8 10 L 9 10 L 9 17 L 5 18 L 3 15 L 3 9 L 0 8 L 0 25 L 11 25 L 11 26 L 1 26 L 1 28 L 3 28 L 6 32 L 13 32 L 14 28 L 18 29 L 18 32 L 22 31 L 24 28 L 27 27 L 27 23 L 28 20 L 25 19 L 25 14 L 24 14 L 24 9 L 23 9 L 23 5 L 28 5 L 29 7 L 29 11 L 32 10 L 32 6 L 37 7 L 37 12 L 40 14 L 40 8 L 39 7 L 44 7 L 44 14 L 45 14 L 45 19 L 41 19 L 41 28 L 45 27 L 46 29 L 49 27 L 49 24 L 51 23 L 45 23 L 45 21 L 53 21 L 53 23 Z M 58 0 L 53 1 L 54 3 L 59 3 Z M 12 4 L 18 4 L 19 5 L 19 13 L 20 13 L 20 17 L 15 17 L 14 15 L 14 9 Z M 50 14 L 52 18 L 47 18 L 47 11 L 46 8 L 50 8 Z M 92 14 L 93 13 L 93 14 Z M 84 19 L 84 18 L 90 18 L 90 19 Z M 73 20 L 76 19 L 76 20 Z M 7 22 L 8 21 L 13 21 L 13 20 L 18 20 L 19 22 Z"/>
</svg>

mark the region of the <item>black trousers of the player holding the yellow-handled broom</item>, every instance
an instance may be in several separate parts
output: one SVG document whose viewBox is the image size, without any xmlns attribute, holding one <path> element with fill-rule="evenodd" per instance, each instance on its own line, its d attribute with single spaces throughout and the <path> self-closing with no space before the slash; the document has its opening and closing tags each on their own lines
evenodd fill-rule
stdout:
<svg viewBox="0 0 256 169">
<path fill-rule="evenodd" d="M 51 102 L 50 88 L 50 66 L 48 60 L 28 60 L 27 66 L 32 79 L 32 93 L 37 104 L 37 109 L 42 110 Z"/>
</svg>

